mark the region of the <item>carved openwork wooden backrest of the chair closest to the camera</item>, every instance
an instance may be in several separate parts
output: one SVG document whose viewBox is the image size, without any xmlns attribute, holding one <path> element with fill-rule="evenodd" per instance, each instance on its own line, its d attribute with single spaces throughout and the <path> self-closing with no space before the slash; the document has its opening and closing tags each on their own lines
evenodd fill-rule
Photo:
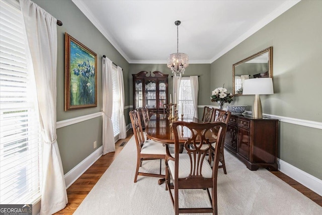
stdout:
<svg viewBox="0 0 322 215">
<path fill-rule="evenodd" d="M 198 178 L 204 178 L 201 174 L 202 166 L 205 160 L 205 156 L 209 153 L 211 144 L 215 144 L 214 163 L 211 178 L 216 179 L 218 172 L 220 148 L 225 138 L 227 125 L 223 122 L 195 123 L 176 121 L 173 123 L 175 136 L 175 178 L 178 178 L 179 174 L 179 135 L 181 135 L 181 129 L 186 129 L 184 127 L 187 127 L 191 131 L 191 138 L 189 138 L 184 144 L 184 149 L 187 151 L 190 157 L 190 174 L 185 180 L 194 181 Z M 211 139 L 211 137 L 213 138 L 214 136 L 216 136 L 214 140 L 209 140 Z"/>
</svg>

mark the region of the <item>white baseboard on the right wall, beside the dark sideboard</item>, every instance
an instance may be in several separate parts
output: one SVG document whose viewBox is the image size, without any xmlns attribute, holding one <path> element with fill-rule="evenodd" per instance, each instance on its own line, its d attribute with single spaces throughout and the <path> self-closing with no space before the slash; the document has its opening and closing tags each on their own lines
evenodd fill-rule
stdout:
<svg viewBox="0 0 322 215">
<path fill-rule="evenodd" d="M 278 170 L 322 196 L 322 180 L 300 170 L 281 159 L 277 159 Z"/>
</svg>

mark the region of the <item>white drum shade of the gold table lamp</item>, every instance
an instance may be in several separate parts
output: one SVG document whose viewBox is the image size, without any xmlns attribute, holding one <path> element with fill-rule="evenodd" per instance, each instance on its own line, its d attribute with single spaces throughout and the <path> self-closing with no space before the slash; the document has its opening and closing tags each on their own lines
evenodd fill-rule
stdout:
<svg viewBox="0 0 322 215">
<path fill-rule="evenodd" d="M 243 95 L 274 94 L 272 78 L 247 79 L 244 81 Z"/>
</svg>

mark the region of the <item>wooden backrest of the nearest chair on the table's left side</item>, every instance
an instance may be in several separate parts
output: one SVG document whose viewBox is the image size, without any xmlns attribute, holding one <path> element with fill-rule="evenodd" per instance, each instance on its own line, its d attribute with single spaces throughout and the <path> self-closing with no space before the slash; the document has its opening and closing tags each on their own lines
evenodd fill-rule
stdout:
<svg viewBox="0 0 322 215">
<path fill-rule="evenodd" d="M 137 153 L 139 155 L 139 153 L 141 152 L 141 148 L 143 146 L 143 143 L 145 141 L 144 135 L 143 135 L 143 129 L 142 129 L 142 125 L 141 125 L 141 119 L 140 119 L 139 112 L 136 110 L 130 111 L 129 115 L 130 115 L 132 128 L 133 128 L 133 132 L 134 132 L 134 137 L 135 137 L 135 141 L 136 141 L 136 149 L 137 149 Z"/>
</svg>

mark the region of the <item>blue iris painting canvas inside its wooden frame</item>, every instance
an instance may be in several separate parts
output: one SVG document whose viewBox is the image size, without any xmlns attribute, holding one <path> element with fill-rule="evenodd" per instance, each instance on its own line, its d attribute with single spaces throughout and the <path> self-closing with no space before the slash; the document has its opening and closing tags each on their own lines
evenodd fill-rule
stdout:
<svg viewBox="0 0 322 215">
<path fill-rule="evenodd" d="M 70 41 L 70 105 L 95 104 L 95 56 Z"/>
</svg>

